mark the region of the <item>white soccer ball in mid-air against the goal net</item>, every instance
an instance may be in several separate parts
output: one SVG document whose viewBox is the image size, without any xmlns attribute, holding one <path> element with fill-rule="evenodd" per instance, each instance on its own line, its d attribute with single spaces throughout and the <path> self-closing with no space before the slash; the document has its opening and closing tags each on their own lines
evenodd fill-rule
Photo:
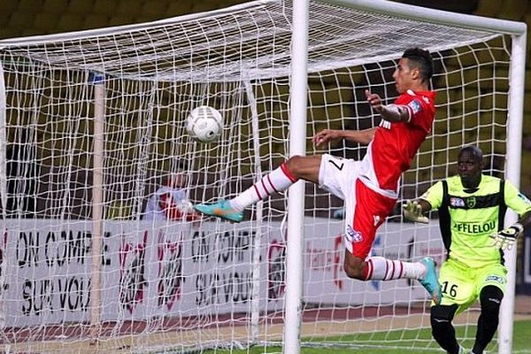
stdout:
<svg viewBox="0 0 531 354">
<path fill-rule="evenodd" d="M 202 105 L 189 113 L 186 131 L 197 142 L 213 142 L 223 130 L 223 117 L 218 110 Z"/>
</svg>

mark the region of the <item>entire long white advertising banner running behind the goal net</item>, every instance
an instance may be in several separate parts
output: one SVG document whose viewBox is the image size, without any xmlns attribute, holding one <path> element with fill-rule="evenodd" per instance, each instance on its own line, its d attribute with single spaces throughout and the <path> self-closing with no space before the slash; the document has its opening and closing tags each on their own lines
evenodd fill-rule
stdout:
<svg viewBox="0 0 531 354">
<path fill-rule="evenodd" d="M 8 327 L 89 321 L 92 223 L 7 220 L 2 242 Z M 426 297 L 415 282 L 353 281 L 342 271 L 342 221 L 305 219 L 304 302 L 396 304 Z M 289 238 L 289 235 L 288 235 Z M 196 317 L 281 310 L 285 237 L 280 222 L 228 224 L 106 221 L 101 320 Z M 259 252 L 253 265 L 254 252 Z M 373 256 L 440 263 L 443 244 L 433 224 L 388 223 Z M 259 281 L 253 283 L 253 273 Z M 258 288 L 255 288 L 258 287 Z M 252 301 L 253 289 L 258 299 Z M 258 290 L 257 290 L 258 289 Z"/>
</svg>

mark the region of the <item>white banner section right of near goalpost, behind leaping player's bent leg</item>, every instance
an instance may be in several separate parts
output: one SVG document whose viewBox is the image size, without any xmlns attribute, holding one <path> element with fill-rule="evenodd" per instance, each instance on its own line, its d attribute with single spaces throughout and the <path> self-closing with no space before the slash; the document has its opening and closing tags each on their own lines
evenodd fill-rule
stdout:
<svg viewBox="0 0 531 354">
<path fill-rule="evenodd" d="M 304 235 L 304 301 L 315 304 L 399 304 L 427 297 L 417 281 L 351 280 L 343 272 L 342 227 L 316 225 Z M 427 256 L 438 265 L 444 256 L 438 224 L 387 223 L 381 226 L 369 257 L 416 261 Z"/>
</svg>

